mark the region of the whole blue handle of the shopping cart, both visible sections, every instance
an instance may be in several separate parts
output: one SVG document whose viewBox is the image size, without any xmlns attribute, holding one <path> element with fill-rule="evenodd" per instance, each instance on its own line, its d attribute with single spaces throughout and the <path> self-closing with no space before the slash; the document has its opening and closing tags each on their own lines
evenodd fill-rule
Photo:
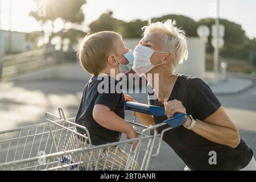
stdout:
<svg viewBox="0 0 256 182">
<path fill-rule="evenodd" d="M 126 102 L 125 110 L 137 111 L 139 113 L 150 114 L 156 117 L 157 116 L 161 117 L 166 115 L 166 111 L 164 110 L 164 107 L 152 106 L 152 105 L 141 104 L 138 102 L 131 102 L 131 101 Z M 167 123 L 172 128 L 175 128 L 175 127 L 184 125 L 186 121 L 187 121 L 187 114 L 176 113 L 174 114 L 174 117 L 167 119 L 163 122 Z"/>
</svg>

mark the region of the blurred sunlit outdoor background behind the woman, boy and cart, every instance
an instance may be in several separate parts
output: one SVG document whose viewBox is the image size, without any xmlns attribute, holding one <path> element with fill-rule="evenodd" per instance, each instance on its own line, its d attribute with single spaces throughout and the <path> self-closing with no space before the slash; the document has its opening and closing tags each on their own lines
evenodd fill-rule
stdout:
<svg viewBox="0 0 256 182">
<path fill-rule="evenodd" d="M 255 7 L 253 0 L 0 0 L 0 130 L 45 122 L 59 106 L 75 117 L 90 78 L 75 51 L 88 32 L 119 32 L 133 49 L 149 19 L 175 19 L 189 51 L 176 73 L 206 81 L 256 151 Z M 163 144 L 149 169 L 183 168 Z"/>
</svg>

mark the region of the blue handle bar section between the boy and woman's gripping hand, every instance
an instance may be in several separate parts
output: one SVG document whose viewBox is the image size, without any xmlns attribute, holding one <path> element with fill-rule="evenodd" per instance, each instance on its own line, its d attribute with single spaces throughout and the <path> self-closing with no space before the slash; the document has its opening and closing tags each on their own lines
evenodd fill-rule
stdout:
<svg viewBox="0 0 256 182">
<path fill-rule="evenodd" d="M 166 111 L 163 107 L 141 104 L 138 102 L 127 101 L 125 103 L 125 110 L 137 111 L 139 113 L 150 114 L 155 116 L 164 116 Z"/>
</svg>

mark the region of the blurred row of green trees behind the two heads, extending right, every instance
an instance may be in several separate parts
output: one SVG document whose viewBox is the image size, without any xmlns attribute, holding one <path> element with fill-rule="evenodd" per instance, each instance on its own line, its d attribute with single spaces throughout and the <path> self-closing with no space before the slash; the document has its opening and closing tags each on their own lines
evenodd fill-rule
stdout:
<svg viewBox="0 0 256 182">
<path fill-rule="evenodd" d="M 174 14 L 152 18 L 151 22 L 163 22 L 167 19 L 176 20 L 177 27 L 182 28 L 188 37 L 197 36 L 197 27 L 202 24 L 208 26 L 210 31 L 212 25 L 215 24 L 215 19 L 213 18 L 201 19 L 196 22 L 187 16 Z M 92 22 L 89 27 L 92 32 L 110 30 L 121 33 L 123 38 L 141 38 L 143 33 L 141 28 L 147 24 L 147 21 L 140 19 L 123 22 L 122 20 L 113 18 L 113 12 L 108 11 L 102 14 L 99 19 Z M 256 39 L 248 39 L 240 24 L 230 22 L 226 19 L 220 19 L 220 24 L 225 26 L 225 44 L 220 49 L 220 55 L 245 60 L 247 63 L 256 65 Z M 207 52 L 209 53 L 213 53 L 213 47 L 210 43 L 211 39 L 212 36 L 209 36 L 207 43 Z"/>
</svg>

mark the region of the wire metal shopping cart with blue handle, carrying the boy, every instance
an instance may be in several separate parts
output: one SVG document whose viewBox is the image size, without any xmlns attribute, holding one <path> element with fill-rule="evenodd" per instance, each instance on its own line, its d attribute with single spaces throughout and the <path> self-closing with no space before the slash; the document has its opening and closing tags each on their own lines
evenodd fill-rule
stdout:
<svg viewBox="0 0 256 182">
<path fill-rule="evenodd" d="M 163 107 L 137 102 L 126 102 L 126 110 L 165 114 Z M 86 127 L 77 125 L 75 118 L 66 119 L 59 107 L 59 116 L 46 113 L 47 123 L 0 132 L 0 170 L 147 170 L 150 159 L 159 154 L 164 132 L 183 125 L 187 116 L 177 113 L 150 127 L 135 119 L 128 122 L 136 127 L 138 138 L 93 146 Z M 170 127 L 158 133 L 164 125 Z"/>
</svg>

